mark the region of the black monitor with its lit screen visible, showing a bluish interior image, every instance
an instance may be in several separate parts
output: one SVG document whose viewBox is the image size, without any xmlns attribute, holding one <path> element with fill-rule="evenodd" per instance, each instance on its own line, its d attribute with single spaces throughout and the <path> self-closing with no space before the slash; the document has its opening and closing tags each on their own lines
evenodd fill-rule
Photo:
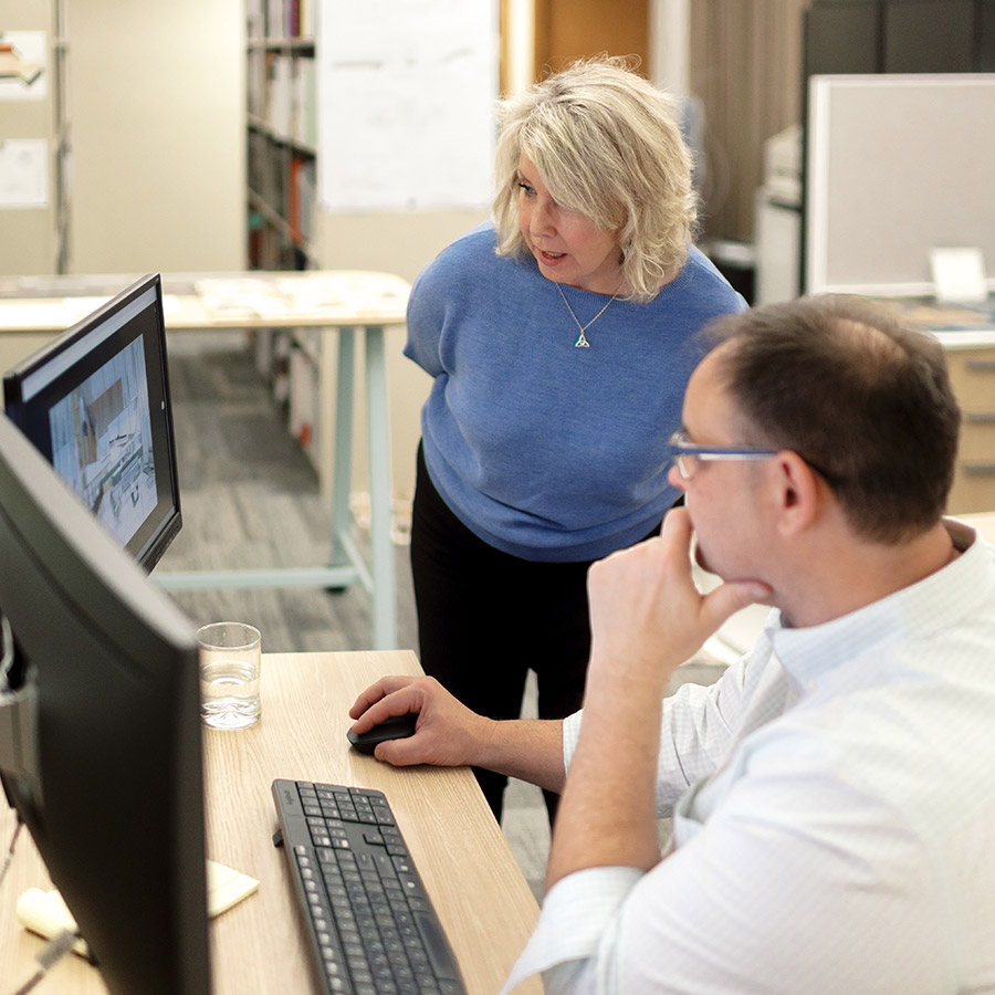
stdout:
<svg viewBox="0 0 995 995">
<path fill-rule="evenodd" d="M 182 521 L 159 276 L 4 374 L 3 398 L 11 420 L 150 570 Z"/>
</svg>

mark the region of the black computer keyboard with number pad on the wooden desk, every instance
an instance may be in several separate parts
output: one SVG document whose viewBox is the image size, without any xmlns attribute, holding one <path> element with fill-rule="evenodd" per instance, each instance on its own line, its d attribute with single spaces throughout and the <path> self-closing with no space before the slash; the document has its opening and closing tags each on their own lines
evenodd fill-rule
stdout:
<svg viewBox="0 0 995 995">
<path fill-rule="evenodd" d="M 322 989 L 465 995 L 384 793 L 274 781 L 273 798 Z"/>
</svg>

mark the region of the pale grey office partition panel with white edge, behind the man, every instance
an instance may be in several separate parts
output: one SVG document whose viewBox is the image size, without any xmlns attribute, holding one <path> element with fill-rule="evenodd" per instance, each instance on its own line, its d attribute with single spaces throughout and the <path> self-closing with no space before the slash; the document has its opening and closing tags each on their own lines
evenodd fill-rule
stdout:
<svg viewBox="0 0 995 995">
<path fill-rule="evenodd" d="M 808 293 L 931 294 L 930 252 L 995 290 L 995 74 L 813 76 Z"/>
</svg>

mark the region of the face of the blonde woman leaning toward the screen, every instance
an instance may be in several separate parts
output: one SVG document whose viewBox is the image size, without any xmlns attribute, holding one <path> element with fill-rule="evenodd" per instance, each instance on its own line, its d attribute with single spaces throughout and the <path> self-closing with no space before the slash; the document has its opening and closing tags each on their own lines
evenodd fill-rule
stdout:
<svg viewBox="0 0 995 995">
<path fill-rule="evenodd" d="M 561 207 L 525 156 L 519 159 L 519 226 L 547 280 L 596 294 L 621 289 L 618 232 Z"/>
</svg>

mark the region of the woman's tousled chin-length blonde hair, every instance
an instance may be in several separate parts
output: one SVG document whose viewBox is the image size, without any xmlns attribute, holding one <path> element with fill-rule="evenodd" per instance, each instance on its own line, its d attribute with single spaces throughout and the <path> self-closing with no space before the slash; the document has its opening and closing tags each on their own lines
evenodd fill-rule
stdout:
<svg viewBox="0 0 995 995">
<path fill-rule="evenodd" d="M 680 107 L 625 59 L 575 62 L 498 108 L 498 254 L 528 252 L 519 228 L 519 158 L 555 200 L 618 230 L 629 297 L 648 301 L 688 260 L 698 219 Z"/>
</svg>

